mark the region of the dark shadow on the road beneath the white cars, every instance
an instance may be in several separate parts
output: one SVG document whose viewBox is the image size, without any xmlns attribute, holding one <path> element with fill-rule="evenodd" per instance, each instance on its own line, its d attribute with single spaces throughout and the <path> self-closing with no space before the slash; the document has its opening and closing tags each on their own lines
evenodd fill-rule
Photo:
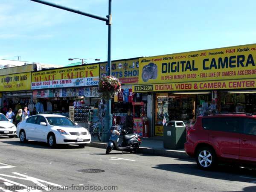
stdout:
<svg viewBox="0 0 256 192">
<path fill-rule="evenodd" d="M 74 148 L 81 148 L 81 147 L 79 147 L 79 145 L 56 145 L 54 148 L 50 148 L 47 145 L 47 143 L 38 142 L 38 141 L 28 141 L 28 143 L 20 143 L 20 141 L 1 141 L 1 143 L 6 143 L 6 145 L 18 145 L 18 146 L 23 146 L 23 147 L 47 148 L 47 149 L 74 149 Z M 1 144 L 0 144 L 0 146 L 1 146 Z"/>
</svg>

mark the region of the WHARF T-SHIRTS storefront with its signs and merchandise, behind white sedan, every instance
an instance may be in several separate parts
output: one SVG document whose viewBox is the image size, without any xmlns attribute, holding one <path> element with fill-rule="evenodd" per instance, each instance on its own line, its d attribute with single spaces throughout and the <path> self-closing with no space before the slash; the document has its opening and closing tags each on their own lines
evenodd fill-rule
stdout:
<svg viewBox="0 0 256 192">
<path fill-rule="evenodd" d="M 38 113 L 61 114 L 87 127 L 89 110 L 98 116 L 98 83 L 98 64 L 34 72 L 34 107 Z"/>
</svg>

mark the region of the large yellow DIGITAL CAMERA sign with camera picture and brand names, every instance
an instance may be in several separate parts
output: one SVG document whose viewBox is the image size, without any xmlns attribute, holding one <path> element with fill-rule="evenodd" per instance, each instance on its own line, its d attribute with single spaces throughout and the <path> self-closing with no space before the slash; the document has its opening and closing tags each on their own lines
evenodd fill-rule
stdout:
<svg viewBox="0 0 256 192">
<path fill-rule="evenodd" d="M 256 44 L 139 58 L 139 84 L 249 79 Z"/>
</svg>

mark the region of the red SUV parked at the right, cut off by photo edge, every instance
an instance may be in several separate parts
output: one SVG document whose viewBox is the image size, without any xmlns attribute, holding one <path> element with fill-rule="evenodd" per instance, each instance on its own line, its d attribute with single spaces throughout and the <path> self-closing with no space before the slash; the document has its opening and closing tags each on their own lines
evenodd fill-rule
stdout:
<svg viewBox="0 0 256 192">
<path fill-rule="evenodd" d="M 186 153 L 201 169 L 220 161 L 256 165 L 256 116 L 226 113 L 198 117 L 187 133 Z"/>
</svg>

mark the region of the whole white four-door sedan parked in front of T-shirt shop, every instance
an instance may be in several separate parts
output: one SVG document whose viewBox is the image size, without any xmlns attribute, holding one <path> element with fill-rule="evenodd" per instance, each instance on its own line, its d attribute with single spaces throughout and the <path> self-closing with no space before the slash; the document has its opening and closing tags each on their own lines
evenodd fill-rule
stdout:
<svg viewBox="0 0 256 192">
<path fill-rule="evenodd" d="M 42 141 L 50 147 L 55 144 L 78 144 L 83 147 L 90 143 L 91 136 L 86 128 L 80 127 L 62 115 L 33 115 L 17 125 L 17 136 L 21 143 L 28 140 Z"/>
</svg>

